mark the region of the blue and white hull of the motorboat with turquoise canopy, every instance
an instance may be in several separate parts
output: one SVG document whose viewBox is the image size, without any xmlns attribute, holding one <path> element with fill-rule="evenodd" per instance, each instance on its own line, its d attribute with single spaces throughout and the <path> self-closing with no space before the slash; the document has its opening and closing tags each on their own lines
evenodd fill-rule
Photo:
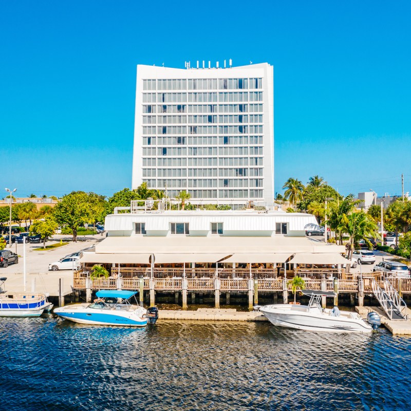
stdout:
<svg viewBox="0 0 411 411">
<path fill-rule="evenodd" d="M 54 313 L 65 320 L 79 324 L 123 327 L 145 327 L 147 325 L 147 319 L 138 315 L 135 310 L 100 310 L 80 305 L 56 308 Z"/>
</svg>

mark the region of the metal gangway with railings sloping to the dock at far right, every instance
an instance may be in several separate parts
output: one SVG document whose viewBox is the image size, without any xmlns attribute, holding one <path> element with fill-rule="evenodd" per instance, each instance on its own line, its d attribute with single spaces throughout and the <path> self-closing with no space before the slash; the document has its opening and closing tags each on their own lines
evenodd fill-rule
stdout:
<svg viewBox="0 0 411 411">
<path fill-rule="evenodd" d="M 388 280 L 384 280 L 384 289 L 377 284 L 375 279 L 372 280 L 371 285 L 373 294 L 390 320 L 407 319 L 407 305 Z"/>
</svg>

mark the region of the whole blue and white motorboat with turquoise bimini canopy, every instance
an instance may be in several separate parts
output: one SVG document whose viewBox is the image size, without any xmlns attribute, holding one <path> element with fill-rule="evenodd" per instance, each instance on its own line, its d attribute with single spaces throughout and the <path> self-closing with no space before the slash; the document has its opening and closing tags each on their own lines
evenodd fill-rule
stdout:
<svg viewBox="0 0 411 411">
<path fill-rule="evenodd" d="M 54 313 L 80 324 L 144 327 L 147 325 L 147 311 L 129 302 L 136 294 L 135 291 L 100 290 L 93 303 L 59 307 L 54 309 Z"/>
</svg>

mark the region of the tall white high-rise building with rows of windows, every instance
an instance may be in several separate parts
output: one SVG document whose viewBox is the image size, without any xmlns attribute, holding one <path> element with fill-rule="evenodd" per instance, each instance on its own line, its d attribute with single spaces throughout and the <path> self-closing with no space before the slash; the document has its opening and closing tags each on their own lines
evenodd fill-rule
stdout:
<svg viewBox="0 0 411 411">
<path fill-rule="evenodd" d="M 137 66 L 132 188 L 272 206 L 273 66 L 199 65 Z"/>
</svg>

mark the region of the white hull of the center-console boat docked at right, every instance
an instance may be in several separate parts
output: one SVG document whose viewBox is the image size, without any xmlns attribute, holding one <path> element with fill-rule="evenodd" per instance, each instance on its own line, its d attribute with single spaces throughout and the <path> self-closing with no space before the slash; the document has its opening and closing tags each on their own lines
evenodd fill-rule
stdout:
<svg viewBox="0 0 411 411">
<path fill-rule="evenodd" d="M 300 308 L 301 307 L 301 308 Z M 331 332 L 371 332 L 372 327 L 360 318 L 351 318 L 350 313 L 342 312 L 340 316 L 331 316 L 317 309 L 305 312 L 306 306 L 290 309 L 288 305 L 279 304 L 260 307 L 259 310 L 271 324 L 280 327 L 310 331 Z M 355 315 L 353 315 L 355 316 Z"/>
</svg>

